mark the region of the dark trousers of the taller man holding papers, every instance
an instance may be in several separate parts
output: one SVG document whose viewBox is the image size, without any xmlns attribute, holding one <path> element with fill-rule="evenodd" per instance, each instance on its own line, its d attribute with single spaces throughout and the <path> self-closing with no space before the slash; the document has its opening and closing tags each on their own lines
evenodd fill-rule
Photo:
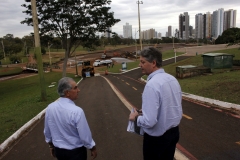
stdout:
<svg viewBox="0 0 240 160">
<path fill-rule="evenodd" d="M 176 144 L 179 140 L 179 128 L 174 127 L 162 136 L 154 137 L 144 133 L 144 160 L 173 160 Z"/>
</svg>

